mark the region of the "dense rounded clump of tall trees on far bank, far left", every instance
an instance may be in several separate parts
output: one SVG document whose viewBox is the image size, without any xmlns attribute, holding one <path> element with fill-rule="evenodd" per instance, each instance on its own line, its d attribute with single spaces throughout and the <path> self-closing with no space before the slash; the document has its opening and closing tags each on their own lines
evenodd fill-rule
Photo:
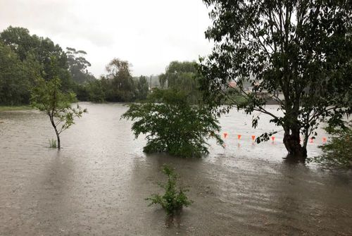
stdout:
<svg viewBox="0 0 352 236">
<path fill-rule="evenodd" d="M 55 67 L 51 58 L 56 58 Z M 38 77 L 58 77 L 63 91 L 73 88 L 61 47 L 51 39 L 30 35 L 23 27 L 0 32 L 0 104 L 29 104 L 30 89 Z"/>
</svg>

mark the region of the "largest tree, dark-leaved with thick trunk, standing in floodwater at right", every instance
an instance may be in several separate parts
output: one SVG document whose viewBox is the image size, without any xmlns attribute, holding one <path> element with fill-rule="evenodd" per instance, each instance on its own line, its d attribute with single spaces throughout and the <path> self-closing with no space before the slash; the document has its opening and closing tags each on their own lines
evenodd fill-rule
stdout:
<svg viewBox="0 0 352 236">
<path fill-rule="evenodd" d="M 284 145 L 295 159 L 306 159 L 308 137 L 319 123 L 344 125 L 351 113 L 352 15 L 351 2 L 315 0 L 204 0 L 211 8 L 213 26 L 206 38 L 215 46 L 201 58 L 201 88 L 211 108 L 223 101 L 246 113 L 259 111 L 282 126 Z M 228 82 L 236 80 L 237 87 Z M 250 82 L 252 90 L 244 83 Z M 239 104 L 229 90 L 244 97 Z M 260 96 L 265 94 L 266 96 Z M 278 96 L 282 94 L 282 96 Z M 279 104 L 283 115 L 265 108 L 268 100 Z M 253 127 L 258 117 L 253 117 Z M 304 136 L 300 144 L 300 134 Z M 257 142 L 268 140 L 261 135 Z"/>
</svg>

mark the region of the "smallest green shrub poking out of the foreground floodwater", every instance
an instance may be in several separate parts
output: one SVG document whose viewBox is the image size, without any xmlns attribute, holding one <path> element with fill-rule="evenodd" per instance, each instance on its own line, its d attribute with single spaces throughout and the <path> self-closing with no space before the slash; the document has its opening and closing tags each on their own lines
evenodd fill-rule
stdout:
<svg viewBox="0 0 352 236">
<path fill-rule="evenodd" d="M 168 176 L 168 182 L 165 185 L 159 184 L 165 190 L 163 196 L 152 194 L 146 200 L 151 201 L 149 206 L 160 204 L 168 215 L 173 215 L 182 210 L 183 206 L 189 206 L 193 201 L 190 201 L 185 192 L 188 190 L 177 190 L 177 175 L 169 166 L 164 165 L 163 173 Z"/>
</svg>

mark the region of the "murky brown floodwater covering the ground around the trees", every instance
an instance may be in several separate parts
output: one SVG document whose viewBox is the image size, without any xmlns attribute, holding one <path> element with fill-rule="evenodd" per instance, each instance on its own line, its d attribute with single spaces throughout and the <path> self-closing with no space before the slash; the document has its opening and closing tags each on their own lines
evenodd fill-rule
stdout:
<svg viewBox="0 0 352 236">
<path fill-rule="evenodd" d="M 231 111 L 220 119 L 225 149 L 210 142 L 207 157 L 179 159 L 145 155 L 122 104 L 81 106 L 89 113 L 63 132 L 61 151 L 47 147 L 55 135 L 42 113 L 0 112 L 1 236 L 352 235 L 351 172 L 287 163 L 282 132 L 252 144 L 251 135 L 279 130 L 265 116 L 253 130 L 251 116 Z M 164 163 L 194 201 L 173 219 L 144 200 L 161 192 Z"/>
</svg>

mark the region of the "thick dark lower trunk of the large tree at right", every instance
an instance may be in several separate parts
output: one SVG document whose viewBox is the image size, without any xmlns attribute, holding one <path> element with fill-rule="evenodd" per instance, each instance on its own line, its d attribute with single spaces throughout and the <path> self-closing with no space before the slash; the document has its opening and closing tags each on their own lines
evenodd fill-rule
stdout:
<svg viewBox="0 0 352 236">
<path fill-rule="evenodd" d="M 289 156 L 296 160 L 306 160 L 307 149 L 302 147 L 299 138 L 299 129 L 287 129 L 284 132 L 284 145 Z"/>
</svg>

